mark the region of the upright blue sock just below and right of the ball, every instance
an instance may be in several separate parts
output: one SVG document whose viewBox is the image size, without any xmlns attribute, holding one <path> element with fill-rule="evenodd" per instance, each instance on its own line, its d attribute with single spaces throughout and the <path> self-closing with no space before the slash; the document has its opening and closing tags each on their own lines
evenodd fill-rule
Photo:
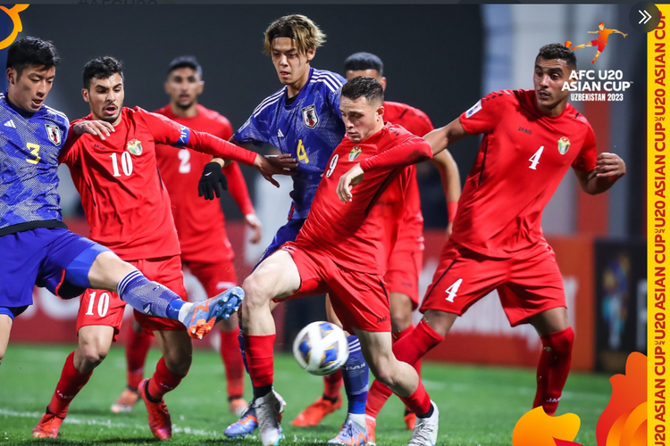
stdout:
<svg viewBox="0 0 670 446">
<path fill-rule="evenodd" d="M 356 335 L 348 336 L 347 341 L 349 343 L 349 357 L 342 366 L 342 378 L 344 379 L 344 389 L 347 392 L 348 413 L 364 414 L 370 368 L 363 359 L 361 343 Z"/>
</svg>

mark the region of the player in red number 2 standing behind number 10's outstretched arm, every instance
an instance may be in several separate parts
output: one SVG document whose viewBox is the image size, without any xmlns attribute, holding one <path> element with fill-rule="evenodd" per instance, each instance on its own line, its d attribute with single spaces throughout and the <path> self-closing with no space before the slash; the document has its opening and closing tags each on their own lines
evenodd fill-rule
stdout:
<svg viewBox="0 0 670 446">
<path fill-rule="evenodd" d="M 230 121 L 198 103 L 198 96 L 204 87 L 202 67 L 197 59 L 193 56 L 177 57 L 170 63 L 165 81 L 165 92 L 170 95 L 170 103 L 155 112 L 188 128 L 227 141 L 232 136 Z M 235 286 L 237 276 L 232 262 L 234 253 L 226 234 L 221 203 L 218 200 L 203 202 L 197 198 L 200 174 L 205 165 L 212 161 L 212 157 L 172 145 L 156 145 L 156 161 L 172 202 L 172 217 L 181 246 L 182 268 L 188 268 L 197 277 L 209 296 Z M 258 243 L 261 222 L 255 215 L 239 164 L 231 162 L 223 168 L 223 172 L 228 178 L 230 195 L 242 211 L 247 226 L 254 232 L 251 243 Z M 245 372 L 239 351 L 237 315 L 223 319 L 218 325 L 230 412 L 241 415 L 247 403 L 242 399 Z M 128 382 L 126 389 L 113 404 L 113 412 L 130 411 L 139 398 L 138 384 L 143 377 L 151 336 L 138 328 L 137 324 L 132 324 L 127 331 Z"/>
</svg>

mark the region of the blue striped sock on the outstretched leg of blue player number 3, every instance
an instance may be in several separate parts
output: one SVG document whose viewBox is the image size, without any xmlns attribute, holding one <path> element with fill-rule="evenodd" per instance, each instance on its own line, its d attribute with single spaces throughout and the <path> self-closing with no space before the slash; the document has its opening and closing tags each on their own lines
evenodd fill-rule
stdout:
<svg viewBox="0 0 670 446">
<path fill-rule="evenodd" d="M 121 279 L 116 293 L 135 310 L 159 318 L 178 319 L 179 310 L 186 303 L 165 286 L 147 279 L 138 269 Z"/>
</svg>

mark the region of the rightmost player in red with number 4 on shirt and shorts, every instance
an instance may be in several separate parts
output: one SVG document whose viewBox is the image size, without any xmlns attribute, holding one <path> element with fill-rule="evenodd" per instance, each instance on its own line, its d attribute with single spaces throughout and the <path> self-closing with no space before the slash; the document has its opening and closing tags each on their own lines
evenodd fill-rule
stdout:
<svg viewBox="0 0 670 446">
<path fill-rule="evenodd" d="M 458 316 L 497 289 L 511 326 L 532 324 L 542 342 L 533 407 L 554 415 L 574 343 L 563 278 L 540 227 L 542 211 L 572 167 L 587 194 L 606 192 L 625 174 L 614 153 L 596 153 L 589 121 L 567 103 L 562 87 L 574 54 L 545 45 L 535 59 L 532 90 L 484 97 L 446 127 L 426 136 L 434 153 L 483 134 L 465 180 L 451 238 L 423 298 L 422 321 L 394 345 L 413 364 L 440 343 Z M 373 383 L 368 408 L 378 410 L 389 389 Z"/>
</svg>

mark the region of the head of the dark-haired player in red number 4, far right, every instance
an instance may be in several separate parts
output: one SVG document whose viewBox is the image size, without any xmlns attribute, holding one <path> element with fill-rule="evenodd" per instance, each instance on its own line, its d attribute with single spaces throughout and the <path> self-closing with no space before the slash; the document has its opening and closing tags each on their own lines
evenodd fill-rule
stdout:
<svg viewBox="0 0 670 446">
<path fill-rule="evenodd" d="M 577 58 L 569 48 L 561 44 L 540 48 L 532 77 L 540 111 L 547 114 L 563 111 L 570 95 L 563 86 L 573 70 L 577 70 Z"/>
</svg>

